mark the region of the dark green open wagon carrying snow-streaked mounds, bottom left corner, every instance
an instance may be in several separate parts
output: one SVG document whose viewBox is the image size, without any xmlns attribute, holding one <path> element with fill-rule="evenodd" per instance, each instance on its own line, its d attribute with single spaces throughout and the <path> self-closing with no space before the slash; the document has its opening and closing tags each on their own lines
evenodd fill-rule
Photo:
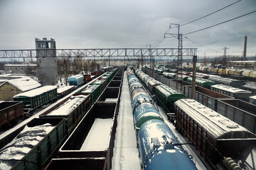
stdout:
<svg viewBox="0 0 256 170">
<path fill-rule="evenodd" d="M 1 138 L 0 169 L 43 169 L 66 134 L 65 119 L 34 118 Z"/>
</svg>

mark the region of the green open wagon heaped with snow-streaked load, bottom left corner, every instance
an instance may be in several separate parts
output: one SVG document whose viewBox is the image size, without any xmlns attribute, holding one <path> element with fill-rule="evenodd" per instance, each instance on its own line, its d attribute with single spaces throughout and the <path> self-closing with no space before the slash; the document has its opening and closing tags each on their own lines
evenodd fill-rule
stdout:
<svg viewBox="0 0 256 170">
<path fill-rule="evenodd" d="M 47 124 L 46 124 L 47 123 Z M 33 130 L 28 132 L 24 132 L 24 128 L 36 128 L 38 126 L 43 125 L 52 125 L 53 128 L 50 130 L 50 132 L 46 132 L 45 136 L 38 141 L 36 145 L 33 145 L 34 143 L 31 142 L 31 145 L 26 144 L 26 142 L 29 142 L 30 140 L 35 141 L 35 135 L 42 136 L 42 130 Z M 20 132 L 22 132 L 22 135 L 19 135 Z M 12 140 L 16 139 L 16 136 L 18 137 L 24 137 L 23 135 L 26 135 L 25 138 L 23 138 L 26 142 L 16 142 L 11 144 L 13 148 L 12 153 L 18 153 L 18 155 L 21 155 L 20 159 L 14 159 L 14 157 L 17 156 L 17 154 L 11 154 L 11 152 L 8 152 L 9 147 L 5 147 L 6 145 L 10 145 L 10 142 Z M 21 128 L 17 128 L 14 130 L 14 132 L 9 133 L 9 135 L 6 135 L 5 137 L 1 138 L 0 140 L 0 150 L 1 152 L 4 152 L 6 149 L 6 153 L 10 153 L 9 157 L 10 159 L 2 159 L 1 160 L 1 166 L 11 166 L 11 169 L 43 169 L 46 167 L 48 162 L 50 162 L 50 159 L 53 158 L 53 155 L 58 152 L 58 149 L 65 141 L 65 138 L 67 137 L 67 129 L 65 128 L 65 119 L 63 118 L 34 118 L 30 122 L 28 122 L 26 125 L 23 125 Z M 26 140 L 27 139 L 27 140 Z M 25 147 L 26 151 L 23 150 L 23 152 L 18 152 L 21 148 Z M 29 150 L 28 150 L 29 149 Z M 1 154 L 0 154 L 1 155 Z M 7 155 L 5 156 L 7 157 Z"/>
</svg>

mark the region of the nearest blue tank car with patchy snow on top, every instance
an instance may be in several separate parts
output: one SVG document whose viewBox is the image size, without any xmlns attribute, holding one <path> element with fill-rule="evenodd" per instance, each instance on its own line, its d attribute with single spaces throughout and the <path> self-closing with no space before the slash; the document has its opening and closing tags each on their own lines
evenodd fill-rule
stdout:
<svg viewBox="0 0 256 170">
<path fill-rule="evenodd" d="M 143 169 L 196 169 L 191 155 L 179 142 L 166 123 L 149 120 L 138 133 Z"/>
</svg>

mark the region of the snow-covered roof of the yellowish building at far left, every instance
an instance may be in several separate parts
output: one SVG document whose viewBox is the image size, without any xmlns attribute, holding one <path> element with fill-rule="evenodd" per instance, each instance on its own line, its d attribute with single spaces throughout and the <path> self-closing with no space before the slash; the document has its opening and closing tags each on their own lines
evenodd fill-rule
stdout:
<svg viewBox="0 0 256 170">
<path fill-rule="evenodd" d="M 38 81 L 31 79 L 30 77 L 23 77 L 21 79 L 10 79 L 7 80 L 9 84 L 16 86 L 16 88 L 20 89 L 21 91 L 29 91 L 31 89 L 38 88 L 41 86 Z"/>
</svg>

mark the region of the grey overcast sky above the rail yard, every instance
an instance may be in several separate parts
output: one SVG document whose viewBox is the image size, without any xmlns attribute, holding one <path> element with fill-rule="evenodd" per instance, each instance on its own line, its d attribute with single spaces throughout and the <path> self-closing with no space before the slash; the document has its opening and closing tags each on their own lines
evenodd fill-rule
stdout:
<svg viewBox="0 0 256 170">
<path fill-rule="evenodd" d="M 238 0 L 235 0 L 238 1 Z M 231 0 L 0 0 L 0 50 L 35 49 L 35 38 L 53 38 L 60 48 L 146 47 L 169 29 L 234 3 Z M 255 0 L 242 0 L 199 21 L 181 26 L 190 33 L 256 10 Z M 172 28 L 168 33 L 177 33 Z M 183 35 L 183 47 L 198 55 L 256 55 L 256 13 L 220 26 Z M 187 38 L 186 38 L 187 37 Z M 156 47 L 178 47 L 165 38 Z M 218 52 L 216 52 L 218 51 Z"/>
</svg>

